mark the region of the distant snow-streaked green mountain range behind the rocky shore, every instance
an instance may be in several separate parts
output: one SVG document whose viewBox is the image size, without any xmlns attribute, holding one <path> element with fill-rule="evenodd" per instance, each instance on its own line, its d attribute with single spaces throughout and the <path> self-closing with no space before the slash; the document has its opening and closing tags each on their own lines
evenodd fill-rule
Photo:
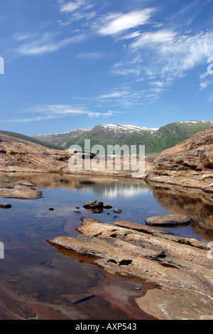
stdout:
<svg viewBox="0 0 213 334">
<path fill-rule="evenodd" d="M 84 140 L 90 139 L 91 147 L 107 145 L 145 145 L 146 153 L 160 153 L 165 149 L 189 139 L 197 132 L 213 126 L 208 121 L 183 121 L 170 123 L 159 129 L 148 129 L 142 126 L 101 124 L 93 129 L 77 129 L 63 134 L 40 134 L 33 139 L 59 145 L 65 149 L 77 144 L 84 149 Z"/>
</svg>

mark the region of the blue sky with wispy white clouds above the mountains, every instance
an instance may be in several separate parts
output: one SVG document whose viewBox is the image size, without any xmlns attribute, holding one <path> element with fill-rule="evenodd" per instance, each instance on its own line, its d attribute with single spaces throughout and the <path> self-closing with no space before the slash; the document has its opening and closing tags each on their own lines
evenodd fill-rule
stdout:
<svg viewBox="0 0 213 334">
<path fill-rule="evenodd" d="M 213 121 L 213 0 L 6 0 L 0 129 Z"/>
</svg>

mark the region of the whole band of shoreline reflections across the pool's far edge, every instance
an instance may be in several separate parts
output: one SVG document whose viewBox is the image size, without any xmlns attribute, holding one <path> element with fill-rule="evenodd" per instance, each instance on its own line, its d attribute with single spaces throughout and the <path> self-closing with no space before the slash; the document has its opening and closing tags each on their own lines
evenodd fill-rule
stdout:
<svg viewBox="0 0 213 334">
<path fill-rule="evenodd" d="M 163 209 L 191 218 L 190 229 L 204 240 L 213 241 L 213 195 L 200 189 L 183 188 L 163 183 L 145 183 L 133 178 L 108 176 L 77 176 L 58 173 L 10 173 L 9 181 L 33 181 L 40 190 L 45 188 L 67 188 L 77 193 L 96 193 L 105 198 L 130 200 L 137 198 L 132 208 L 141 208 L 141 194 L 153 193 Z M 155 200 L 152 207 L 155 208 Z M 148 205 L 148 203 L 146 203 Z M 148 210 L 150 210 L 148 208 Z M 156 212 L 156 211 L 155 211 Z M 137 214 L 137 211 L 135 212 Z M 155 213 L 158 215 L 158 213 Z"/>
</svg>

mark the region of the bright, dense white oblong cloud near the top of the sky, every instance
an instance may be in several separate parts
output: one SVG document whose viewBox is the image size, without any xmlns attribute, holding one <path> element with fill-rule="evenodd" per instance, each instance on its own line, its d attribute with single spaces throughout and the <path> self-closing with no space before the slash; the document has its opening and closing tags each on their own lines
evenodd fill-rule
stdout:
<svg viewBox="0 0 213 334">
<path fill-rule="evenodd" d="M 98 33 L 104 36 L 116 35 L 130 28 L 136 28 L 148 23 L 153 11 L 154 9 L 148 8 L 127 14 L 109 14 L 99 22 Z"/>
</svg>

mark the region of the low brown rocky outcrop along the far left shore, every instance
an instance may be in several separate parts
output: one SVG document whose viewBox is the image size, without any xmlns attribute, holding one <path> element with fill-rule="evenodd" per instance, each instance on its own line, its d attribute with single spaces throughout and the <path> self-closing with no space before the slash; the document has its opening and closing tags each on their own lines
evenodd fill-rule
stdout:
<svg viewBox="0 0 213 334">
<path fill-rule="evenodd" d="M 64 151 L 48 149 L 45 146 L 0 133 L 0 172 L 67 173 L 106 177 L 132 176 L 131 170 L 122 169 L 124 161 L 121 161 L 121 170 L 116 170 L 114 161 L 112 161 L 112 169 L 108 170 L 108 158 L 111 159 L 107 156 L 97 158 L 93 153 L 75 149 Z M 125 158 L 129 160 L 129 156 L 125 156 Z M 79 161 L 80 163 L 77 164 Z M 93 162 L 91 166 L 88 165 L 89 161 Z M 151 161 L 150 159 L 146 160 L 146 170 L 151 168 L 152 161 L 152 159 Z"/>
</svg>

